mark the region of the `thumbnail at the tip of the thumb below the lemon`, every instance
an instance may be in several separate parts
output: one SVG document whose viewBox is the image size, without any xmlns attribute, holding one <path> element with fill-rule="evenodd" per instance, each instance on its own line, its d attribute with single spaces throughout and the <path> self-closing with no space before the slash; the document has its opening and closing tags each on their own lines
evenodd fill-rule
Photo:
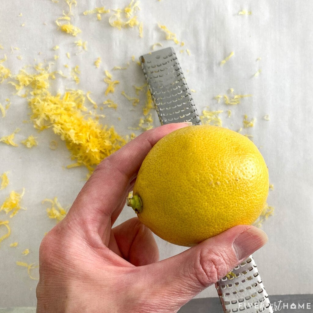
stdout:
<svg viewBox="0 0 313 313">
<path fill-rule="evenodd" d="M 233 248 L 237 253 L 238 260 L 244 260 L 254 251 L 260 249 L 268 241 L 263 230 L 251 227 L 242 232 L 233 242 Z"/>
</svg>

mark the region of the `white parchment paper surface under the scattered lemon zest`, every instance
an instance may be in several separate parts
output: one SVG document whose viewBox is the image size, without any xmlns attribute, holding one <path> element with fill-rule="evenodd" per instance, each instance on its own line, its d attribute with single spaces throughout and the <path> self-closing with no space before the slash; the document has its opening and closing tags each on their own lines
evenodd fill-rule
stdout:
<svg viewBox="0 0 313 313">
<path fill-rule="evenodd" d="M 23 65 L 53 59 L 57 69 L 65 74 L 79 65 L 80 84 L 71 79 L 57 78 L 52 82 L 51 92 L 64 88 L 80 88 L 92 92 L 92 97 L 101 104 L 104 95 L 104 69 L 123 66 L 151 51 L 151 45 L 162 42 L 164 47 L 173 46 L 177 51 L 188 85 L 197 92 L 193 94 L 199 111 L 209 106 L 212 110 L 224 110 L 221 114 L 223 126 L 234 130 L 242 126 L 243 115 L 256 117 L 254 128 L 244 133 L 254 135 L 255 144 L 260 147 L 269 167 L 270 182 L 275 191 L 270 192 L 268 202 L 274 205 L 275 216 L 263 229 L 269 235 L 269 243 L 254 254 L 264 285 L 269 294 L 313 293 L 311 260 L 313 258 L 313 184 L 312 184 L 312 1 L 186 1 L 154 0 L 141 1 L 138 19 L 144 23 L 144 36 L 138 37 L 137 29 L 119 31 L 108 24 L 109 14 L 84 16 L 87 9 L 105 5 L 106 8 L 125 6 L 127 1 L 78 1 L 73 8 L 73 24 L 82 29 L 77 36 L 88 41 L 88 52 L 77 55 L 81 49 L 75 47 L 71 35 L 61 33 L 54 23 L 67 6 L 60 0 L 52 3 L 41 1 L 1 1 L 0 4 L 0 57 L 7 54 L 4 64 L 17 73 Z M 238 16 L 239 10 L 252 11 L 252 15 Z M 18 17 L 23 13 L 22 17 Z M 185 42 L 191 51 L 179 53 L 180 46 L 166 41 L 157 23 L 165 24 L 177 38 Z M 24 27 L 20 25 L 25 23 Z M 47 25 L 44 25 L 46 23 Z M 52 48 L 59 45 L 60 49 Z M 10 46 L 19 51 L 11 52 Z M 231 51 L 234 56 L 223 66 L 219 63 Z M 41 55 L 38 55 L 42 52 Z M 71 59 L 67 59 L 70 52 Z M 23 60 L 18 60 L 22 55 Z M 96 69 L 93 62 L 101 57 L 102 63 Z M 256 61 L 258 57 L 262 59 Z M 253 74 L 262 69 L 259 77 Z M 140 67 L 131 62 L 127 70 L 111 71 L 114 79 L 120 80 L 115 94 L 110 96 L 118 104 L 118 110 L 105 109 L 103 123 L 114 125 L 121 134 L 130 134 L 129 126 L 136 126 L 141 115 L 141 104 L 133 108 L 121 96 L 121 91 L 135 95 L 133 84 L 141 85 L 144 77 Z M 213 97 L 233 88 L 238 94 L 253 94 L 243 99 L 236 107 L 216 104 Z M 36 262 L 38 246 L 54 220 L 46 216 L 44 198 L 57 196 L 60 203 L 70 206 L 84 184 L 84 168 L 63 169 L 70 163 L 69 152 L 64 142 L 51 130 L 36 134 L 32 124 L 23 124 L 29 113 L 26 99 L 13 96 L 14 88 L 3 82 L 0 85 L 0 102 L 11 99 L 7 117 L 0 118 L 0 136 L 8 135 L 16 127 L 21 131 L 16 142 L 28 135 L 38 136 L 38 146 L 27 150 L 0 143 L 0 173 L 9 171 L 10 185 L 0 192 L 2 202 L 11 190 L 26 188 L 23 206 L 10 219 L 12 234 L 3 241 L 0 248 L 0 307 L 32 306 L 36 304 L 37 282 L 30 280 L 25 268 L 15 265 L 17 260 Z M 226 110 L 232 110 L 227 118 Z M 262 117 L 269 114 L 270 121 Z M 121 117 L 121 120 L 118 120 Z M 156 114 L 155 126 L 158 125 Z M 139 134 L 139 132 L 137 132 Z M 58 149 L 49 149 L 49 142 L 57 140 Z M 125 208 L 117 223 L 134 216 Z M 7 217 L 2 212 L 0 219 Z M 0 229 L 0 235 L 4 229 Z M 18 247 L 10 248 L 18 241 Z M 181 252 L 184 248 L 167 244 L 157 238 L 161 259 Z M 22 256 L 29 248 L 31 253 Z M 216 296 L 214 287 L 202 292 L 200 297 Z"/>
</svg>

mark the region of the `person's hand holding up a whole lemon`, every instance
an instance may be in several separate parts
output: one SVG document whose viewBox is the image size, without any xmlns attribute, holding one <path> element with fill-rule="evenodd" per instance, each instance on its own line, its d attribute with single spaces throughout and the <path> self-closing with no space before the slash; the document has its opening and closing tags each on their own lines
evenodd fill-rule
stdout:
<svg viewBox="0 0 313 313">
<path fill-rule="evenodd" d="M 42 240 L 37 313 L 173 313 L 267 241 L 235 226 L 158 262 L 151 231 L 131 218 L 112 228 L 151 147 L 186 123 L 146 131 L 105 158 L 69 213 Z"/>
</svg>

